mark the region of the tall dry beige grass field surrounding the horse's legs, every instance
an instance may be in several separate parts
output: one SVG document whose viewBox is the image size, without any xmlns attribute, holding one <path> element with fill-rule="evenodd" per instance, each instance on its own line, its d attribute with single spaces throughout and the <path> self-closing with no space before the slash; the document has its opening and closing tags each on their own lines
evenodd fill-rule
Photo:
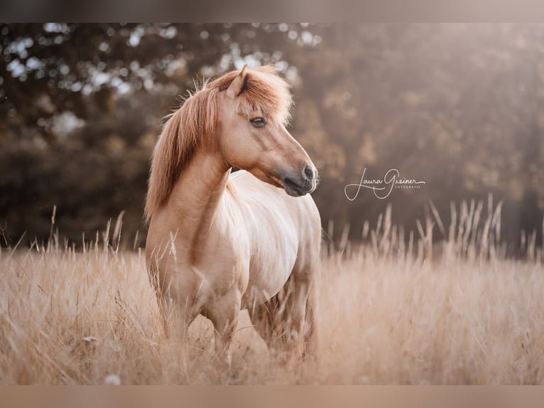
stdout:
<svg viewBox="0 0 544 408">
<path fill-rule="evenodd" d="M 445 229 L 430 212 L 405 243 L 388 209 L 363 244 L 325 248 L 320 349 L 304 362 L 268 350 L 246 312 L 230 367 L 214 365 L 205 318 L 187 344 L 165 338 L 138 251 L 1 249 L 0 384 L 542 384 L 542 252 L 530 236 L 526 259 L 505 259 L 500 205 L 483 213 L 454 206 Z"/>
</svg>

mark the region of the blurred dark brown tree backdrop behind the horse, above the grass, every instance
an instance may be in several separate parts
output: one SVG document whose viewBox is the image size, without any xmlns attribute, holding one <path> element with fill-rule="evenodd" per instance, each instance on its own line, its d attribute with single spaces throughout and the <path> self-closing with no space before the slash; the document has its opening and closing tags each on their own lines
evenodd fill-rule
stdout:
<svg viewBox="0 0 544 408">
<path fill-rule="evenodd" d="M 0 24 L 0 245 L 76 245 L 121 214 L 145 242 L 149 158 L 163 117 L 195 80 L 271 64 L 292 85 L 290 132 L 320 171 L 327 240 L 360 240 L 392 206 L 415 230 L 430 203 L 503 200 L 502 240 L 542 242 L 544 26 L 349 24 Z M 344 187 L 390 168 L 425 181 Z M 349 228 L 348 228 L 348 227 Z"/>
</svg>

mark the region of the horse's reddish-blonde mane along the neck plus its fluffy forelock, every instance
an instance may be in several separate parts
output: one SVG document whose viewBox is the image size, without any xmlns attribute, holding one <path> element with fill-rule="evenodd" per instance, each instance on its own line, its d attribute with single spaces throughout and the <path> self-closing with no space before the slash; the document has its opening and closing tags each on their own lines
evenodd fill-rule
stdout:
<svg viewBox="0 0 544 408">
<path fill-rule="evenodd" d="M 227 90 L 239 71 L 204 83 L 170 115 L 153 150 L 151 175 L 146 197 L 145 217 L 150 220 L 163 206 L 190 161 L 195 149 L 214 143 L 219 114 L 219 92 Z M 239 113 L 250 118 L 260 114 L 285 124 L 290 117 L 291 95 L 288 84 L 273 67 L 247 71 L 244 87 L 237 98 Z"/>
</svg>

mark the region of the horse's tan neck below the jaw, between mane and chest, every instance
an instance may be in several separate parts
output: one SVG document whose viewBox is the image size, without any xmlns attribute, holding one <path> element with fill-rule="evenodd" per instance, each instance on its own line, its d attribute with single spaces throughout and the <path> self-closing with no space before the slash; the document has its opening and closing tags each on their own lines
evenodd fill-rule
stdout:
<svg viewBox="0 0 544 408">
<path fill-rule="evenodd" d="M 178 238 L 193 259 L 210 233 L 229 173 L 219 156 L 197 150 L 172 190 L 168 210 L 175 214 Z"/>
</svg>

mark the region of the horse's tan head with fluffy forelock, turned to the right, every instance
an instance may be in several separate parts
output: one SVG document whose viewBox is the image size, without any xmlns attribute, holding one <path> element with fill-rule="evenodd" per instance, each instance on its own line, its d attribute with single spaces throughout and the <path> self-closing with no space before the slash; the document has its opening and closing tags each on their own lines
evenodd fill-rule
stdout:
<svg viewBox="0 0 544 408">
<path fill-rule="evenodd" d="M 222 79 L 217 136 L 224 160 L 295 197 L 315 190 L 317 169 L 285 129 L 291 104 L 285 81 L 273 68 L 246 66 Z"/>
</svg>

